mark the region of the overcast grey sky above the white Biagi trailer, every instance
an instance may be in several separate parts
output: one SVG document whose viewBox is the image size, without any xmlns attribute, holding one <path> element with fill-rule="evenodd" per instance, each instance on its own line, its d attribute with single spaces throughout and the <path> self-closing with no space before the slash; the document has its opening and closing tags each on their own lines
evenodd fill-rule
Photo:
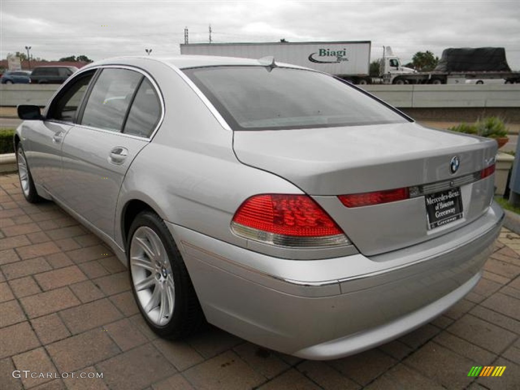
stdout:
<svg viewBox="0 0 520 390">
<path fill-rule="evenodd" d="M 371 41 L 404 63 L 417 51 L 505 47 L 520 70 L 520 5 L 514 1 L 110 1 L 0 0 L 0 57 L 24 51 L 57 60 L 86 55 L 179 54 L 189 42 Z"/>
</svg>

